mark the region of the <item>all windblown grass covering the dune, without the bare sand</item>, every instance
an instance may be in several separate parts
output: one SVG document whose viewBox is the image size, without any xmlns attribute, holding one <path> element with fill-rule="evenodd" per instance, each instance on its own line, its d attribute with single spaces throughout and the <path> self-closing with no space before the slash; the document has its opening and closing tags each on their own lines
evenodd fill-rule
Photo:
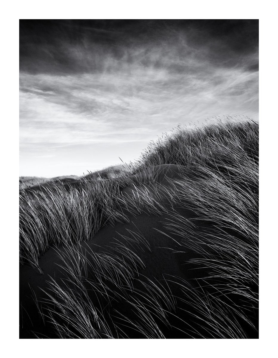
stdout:
<svg viewBox="0 0 278 358">
<path fill-rule="evenodd" d="M 161 189 L 153 176 L 153 167 L 161 164 L 182 165 L 187 172 Z M 59 338 L 167 338 L 172 331 L 181 338 L 249 338 L 247 332 L 258 329 L 258 124 L 180 127 L 150 144 L 130 169 L 146 175 L 128 172 L 108 180 L 87 175 L 78 186 L 21 193 L 21 263 L 39 269 L 38 257 L 49 246 L 67 247 L 67 284 L 50 279 L 53 294 L 43 318 Z M 138 199 L 122 195 L 128 186 Z M 140 232 L 129 232 L 123 237 L 127 245 L 113 247 L 113 253 L 84 255 L 72 245 L 91 239 L 107 223 L 128 221 L 128 213 L 164 213 L 161 192 L 172 207 L 161 235 L 180 238 L 176 251 L 169 250 L 202 256 L 191 260 L 206 270 L 195 287 L 184 277 L 158 283 L 138 275 L 144 263 L 136 248 L 149 250 Z M 192 210 L 198 221 L 187 220 L 176 207 Z M 211 229 L 202 231 L 200 221 Z M 111 301 L 120 308 L 113 309 Z"/>
</svg>

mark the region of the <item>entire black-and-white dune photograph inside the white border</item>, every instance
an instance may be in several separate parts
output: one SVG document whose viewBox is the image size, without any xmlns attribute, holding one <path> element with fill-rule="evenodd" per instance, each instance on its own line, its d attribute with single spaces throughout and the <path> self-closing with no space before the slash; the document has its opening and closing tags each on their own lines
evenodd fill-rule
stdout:
<svg viewBox="0 0 278 358">
<path fill-rule="evenodd" d="M 258 339 L 258 166 L 258 19 L 19 19 L 19 339 Z"/>
</svg>

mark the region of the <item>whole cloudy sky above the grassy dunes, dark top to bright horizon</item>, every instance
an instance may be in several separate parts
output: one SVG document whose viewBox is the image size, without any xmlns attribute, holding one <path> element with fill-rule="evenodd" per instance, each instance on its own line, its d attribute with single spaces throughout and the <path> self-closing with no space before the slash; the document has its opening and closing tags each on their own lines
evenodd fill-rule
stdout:
<svg viewBox="0 0 278 358">
<path fill-rule="evenodd" d="M 140 157 L 179 124 L 258 120 L 258 20 L 20 20 L 20 176 Z"/>
</svg>

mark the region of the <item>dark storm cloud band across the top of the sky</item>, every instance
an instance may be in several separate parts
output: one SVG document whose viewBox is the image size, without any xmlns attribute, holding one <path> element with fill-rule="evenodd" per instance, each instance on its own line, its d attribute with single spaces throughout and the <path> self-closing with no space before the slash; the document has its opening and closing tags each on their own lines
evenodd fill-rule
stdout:
<svg viewBox="0 0 278 358">
<path fill-rule="evenodd" d="M 20 69 L 84 73 L 140 66 L 188 71 L 185 57 L 254 68 L 257 20 L 20 20 Z"/>
</svg>

